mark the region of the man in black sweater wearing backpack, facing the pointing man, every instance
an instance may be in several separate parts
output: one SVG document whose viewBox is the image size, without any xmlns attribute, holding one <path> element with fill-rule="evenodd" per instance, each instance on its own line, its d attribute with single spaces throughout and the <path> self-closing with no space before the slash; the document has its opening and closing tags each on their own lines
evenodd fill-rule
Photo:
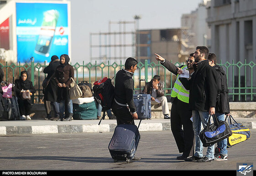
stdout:
<svg viewBox="0 0 256 176">
<path fill-rule="evenodd" d="M 137 64 L 137 60 L 129 57 L 125 61 L 125 68 L 119 70 L 115 77 L 115 96 L 112 104 L 112 112 L 117 118 L 117 125 L 134 125 L 134 119 L 138 119 L 133 101 L 133 74 L 137 69 Z"/>
</svg>

